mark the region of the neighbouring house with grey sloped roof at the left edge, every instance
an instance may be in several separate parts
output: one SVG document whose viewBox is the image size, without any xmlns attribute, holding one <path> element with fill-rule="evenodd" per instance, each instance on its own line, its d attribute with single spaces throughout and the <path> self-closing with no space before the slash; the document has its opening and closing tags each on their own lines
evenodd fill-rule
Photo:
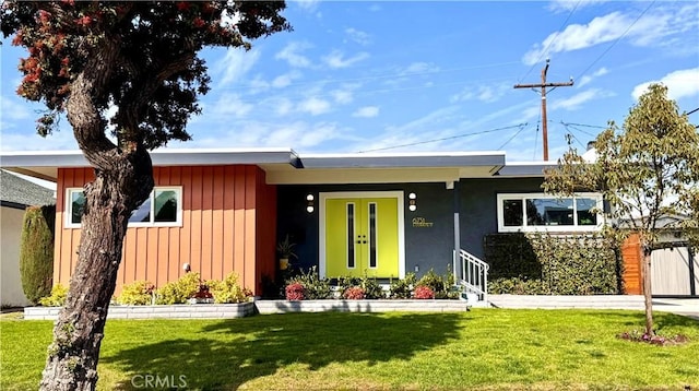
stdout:
<svg viewBox="0 0 699 391">
<path fill-rule="evenodd" d="M 20 277 L 20 238 L 27 206 L 56 203 L 54 190 L 0 170 L 0 301 L 2 307 L 28 305 Z"/>
</svg>

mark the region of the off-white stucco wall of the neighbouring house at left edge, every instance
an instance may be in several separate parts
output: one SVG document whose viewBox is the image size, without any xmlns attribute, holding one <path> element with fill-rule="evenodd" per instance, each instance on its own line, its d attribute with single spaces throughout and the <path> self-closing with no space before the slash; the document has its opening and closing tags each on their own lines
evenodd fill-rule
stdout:
<svg viewBox="0 0 699 391">
<path fill-rule="evenodd" d="M 2 306 L 28 306 L 20 277 L 20 238 L 24 210 L 0 208 L 0 303 Z"/>
</svg>

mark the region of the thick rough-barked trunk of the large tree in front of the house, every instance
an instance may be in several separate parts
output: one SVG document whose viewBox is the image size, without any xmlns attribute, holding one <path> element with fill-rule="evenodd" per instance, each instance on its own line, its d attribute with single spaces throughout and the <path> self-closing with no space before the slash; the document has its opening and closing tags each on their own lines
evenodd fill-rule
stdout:
<svg viewBox="0 0 699 391">
<path fill-rule="evenodd" d="M 151 158 L 144 149 L 120 153 L 115 147 L 107 154 L 102 158 L 108 167 L 95 169 L 95 180 L 85 186 L 78 265 L 54 327 L 42 390 L 95 389 L 129 216 L 153 189 Z"/>
</svg>

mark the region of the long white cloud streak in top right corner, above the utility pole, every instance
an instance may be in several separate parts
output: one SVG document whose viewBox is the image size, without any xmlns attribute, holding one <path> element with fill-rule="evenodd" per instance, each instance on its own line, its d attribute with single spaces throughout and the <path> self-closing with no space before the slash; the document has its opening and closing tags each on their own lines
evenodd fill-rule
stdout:
<svg viewBox="0 0 699 391">
<path fill-rule="evenodd" d="M 699 3 L 682 8 L 659 7 L 638 20 L 638 12 L 627 14 L 616 11 L 597 16 L 588 24 L 571 24 L 562 32 L 550 34 L 524 54 L 522 61 L 531 66 L 552 54 L 584 49 L 624 36 L 636 46 L 671 46 L 672 36 L 699 27 L 697 12 Z"/>
</svg>

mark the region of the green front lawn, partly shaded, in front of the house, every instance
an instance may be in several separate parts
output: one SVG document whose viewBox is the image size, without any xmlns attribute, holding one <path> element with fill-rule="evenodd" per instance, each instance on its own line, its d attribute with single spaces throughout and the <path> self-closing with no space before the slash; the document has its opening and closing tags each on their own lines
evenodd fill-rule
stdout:
<svg viewBox="0 0 699 391">
<path fill-rule="evenodd" d="M 690 342 L 619 340 L 643 324 L 642 312 L 620 310 L 110 320 L 98 389 L 135 390 L 145 375 L 169 386 L 181 386 L 183 376 L 194 390 L 696 389 L 699 321 L 662 312 L 655 319 L 660 333 Z M 0 320 L 0 389 L 36 389 L 51 325 Z"/>
</svg>

